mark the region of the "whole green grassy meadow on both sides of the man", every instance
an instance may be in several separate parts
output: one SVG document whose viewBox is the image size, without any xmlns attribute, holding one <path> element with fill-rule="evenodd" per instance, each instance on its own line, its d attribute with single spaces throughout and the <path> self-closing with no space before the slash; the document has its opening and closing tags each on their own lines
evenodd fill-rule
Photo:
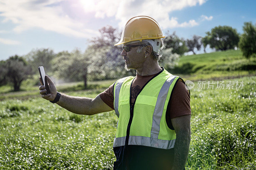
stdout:
<svg viewBox="0 0 256 170">
<path fill-rule="evenodd" d="M 196 56 L 200 57 L 191 57 Z M 186 63 L 182 60 L 181 64 Z M 194 60 L 197 58 L 189 61 Z M 234 73 L 237 78 L 215 73 L 216 77 L 191 74 L 184 78 L 195 83 L 190 90 L 191 143 L 185 167 L 256 169 L 256 77 L 250 76 L 255 73 Z M 206 81 L 204 87 L 201 79 Z M 114 81 L 89 83 L 85 90 L 81 83 L 57 89 L 94 98 Z M 208 81 L 213 85 L 210 88 Z M 223 89 L 217 87 L 220 81 L 224 81 Z M 114 111 L 76 115 L 42 99 L 38 86 L 24 85 L 22 89 L 0 88 L 0 169 L 113 169 Z"/>
</svg>

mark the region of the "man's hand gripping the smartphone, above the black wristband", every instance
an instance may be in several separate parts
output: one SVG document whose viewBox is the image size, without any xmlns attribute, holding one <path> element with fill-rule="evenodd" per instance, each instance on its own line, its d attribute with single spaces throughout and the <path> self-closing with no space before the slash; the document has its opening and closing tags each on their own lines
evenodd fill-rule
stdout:
<svg viewBox="0 0 256 170">
<path fill-rule="evenodd" d="M 41 77 L 39 77 L 39 81 L 41 83 L 41 86 L 39 86 L 39 90 L 40 90 L 39 93 L 41 94 L 42 98 L 52 101 L 52 100 L 55 99 L 55 97 L 57 95 L 57 88 L 54 85 L 54 83 L 52 82 L 51 78 L 49 78 L 47 75 L 45 77 L 46 77 L 46 80 L 47 80 L 47 82 L 45 82 L 45 83 L 47 83 L 48 86 L 49 86 L 50 94 L 44 94 L 46 92 L 46 90 L 45 90 L 45 87 L 42 83 Z"/>
</svg>

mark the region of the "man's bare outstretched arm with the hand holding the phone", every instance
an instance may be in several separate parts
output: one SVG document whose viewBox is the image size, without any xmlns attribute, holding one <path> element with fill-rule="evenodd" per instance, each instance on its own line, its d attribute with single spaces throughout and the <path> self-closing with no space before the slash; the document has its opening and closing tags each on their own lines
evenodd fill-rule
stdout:
<svg viewBox="0 0 256 170">
<path fill-rule="evenodd" d="M 57 89 L 52 80 L 46 76 L 47 83 L 49 86 L 50 94 L 44 94 L 46 92 L 44 85 L 42 85 L 42 80 L 39 78 L 41 86 L 39 87 L 39 93 L 42 98 L 46 100 L 54 100 L 57 95 Z M 97 95 L 95 99 L 85 98 L 85 97 L 74 97 L 68 96 L 64 93 L 60 93 L 60 99 L 56 104 L 67 109 L 70 112 L 79 114 L 79 115 L 94 115 L 101 112 L 108 112 L 113 110 L 107 104 L 105 104 L 100 95 Z"/>
</svg>

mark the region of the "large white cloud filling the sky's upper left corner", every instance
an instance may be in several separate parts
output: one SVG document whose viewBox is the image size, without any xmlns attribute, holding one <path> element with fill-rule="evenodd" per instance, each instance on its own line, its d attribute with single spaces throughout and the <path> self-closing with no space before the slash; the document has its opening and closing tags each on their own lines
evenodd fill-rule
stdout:
<svg viewBox="0 0 256 170">
<path fill-rule="evenodd" d="M 21 33 L 31 28 L 43 28 L 75 37 L 90 38 L 98 31 L 86 28 L 84 23 L 75 21 L 64 15 L 65 12 L 57 3 L 63 0 L 0 0 L 0 16 L 5 17 L 2 22 L 12 21 L 16 26 L 13 31 Z"/>
</svg>

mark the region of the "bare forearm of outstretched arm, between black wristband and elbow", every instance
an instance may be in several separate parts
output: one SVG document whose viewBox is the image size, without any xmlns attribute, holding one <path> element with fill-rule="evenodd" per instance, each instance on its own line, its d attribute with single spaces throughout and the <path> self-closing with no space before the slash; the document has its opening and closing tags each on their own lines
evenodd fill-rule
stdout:
<svg viewBox="0 0 256 170">
<path fill-rule="evenodd" d="M 93 115 L 90 109 L 92 100 L 90 98 L 68 96 L 61 93 L 60 100 L 56 103 L 68 111 L 79 115 Z"/>
</svg>

